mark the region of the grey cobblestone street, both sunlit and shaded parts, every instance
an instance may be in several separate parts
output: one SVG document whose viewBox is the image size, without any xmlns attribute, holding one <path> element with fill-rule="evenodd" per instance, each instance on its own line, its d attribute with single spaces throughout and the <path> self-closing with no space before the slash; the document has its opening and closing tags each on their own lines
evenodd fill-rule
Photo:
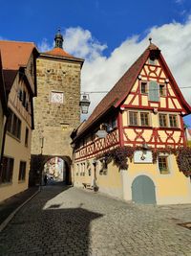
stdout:
<svg viewBox="0 0 191 256">
<path fill-rule="evenodd" d="M 191 205 L 127 203 L 47 186 L 0 233 L 0 255 L 190 255 Z"/>
</svg>

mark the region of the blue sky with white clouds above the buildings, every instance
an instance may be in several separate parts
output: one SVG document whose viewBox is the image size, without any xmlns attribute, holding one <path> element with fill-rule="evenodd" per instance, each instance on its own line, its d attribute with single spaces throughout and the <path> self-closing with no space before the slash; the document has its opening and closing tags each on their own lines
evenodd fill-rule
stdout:
<svg viewBox="0 0 191 256">
<path fill-rule="evenodd" d="M 105 96 L 93 92 L 109 91 L 150 36 L 191 105 L 190 0 L 0 0 L 0 6 L 0 39 L 32 41 L 43 52 L 60 28 L 64 50 L 85 59 L 81 92 L 92 92 L 89 114 Z M 191 127 L 191 115 L 184 121 Z"/>
</svg>

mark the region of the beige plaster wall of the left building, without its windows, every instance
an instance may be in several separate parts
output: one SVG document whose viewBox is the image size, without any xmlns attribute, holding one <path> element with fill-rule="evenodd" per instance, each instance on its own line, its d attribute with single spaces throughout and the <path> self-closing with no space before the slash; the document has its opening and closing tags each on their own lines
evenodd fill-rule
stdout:
<svg viewBox="0 0 191 256">
<path fill-rule="evenodd" d="M 21 138 L 20 140 L 14 138 L 9 132 L 6 135 L 4 155 L 14 158 L 14 164 L 11 183 L 0 184 L 0 201 L 26 190 L 29 183 L 32 140 L 31 114 L 18 101 L 16 88 L 19 88 L 19 86 L 14 83 L 11 88 L 8 105 L 21 120 Z M 26 128 L 29 128 L 28 147 L 25 146 Z M 27 162 L 25 181 L 18 181 L 20 161 Z"/>
</svg>

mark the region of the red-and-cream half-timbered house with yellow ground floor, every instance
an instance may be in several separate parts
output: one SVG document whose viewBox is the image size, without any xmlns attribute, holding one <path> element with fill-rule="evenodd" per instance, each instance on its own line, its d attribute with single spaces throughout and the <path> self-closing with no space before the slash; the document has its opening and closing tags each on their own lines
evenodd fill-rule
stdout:
<svg viewBox="0 0 191 256">
<path fill-rule="evenodd" d="M 151 43 L 72 133 L 74 185 L 140 203 L 190 203 L 190 178 L 171 153 L 186 145 L 182 117 L 190 113 Z"/>
</svg>

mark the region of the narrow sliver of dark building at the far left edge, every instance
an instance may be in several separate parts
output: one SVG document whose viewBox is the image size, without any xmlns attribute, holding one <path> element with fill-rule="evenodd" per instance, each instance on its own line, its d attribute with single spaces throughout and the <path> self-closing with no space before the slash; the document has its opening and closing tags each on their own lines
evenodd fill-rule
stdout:
<svg viewBox="0 0 191 256">
<path fill-rule="evenodd" d="M 5 127 L 8 115 L 6 90 L 3 78 L 3 68 L 0 54 L 0 168 L 5 145 Z M 1 173 L 1 171 L 0 171 Z"/>
</svg>

